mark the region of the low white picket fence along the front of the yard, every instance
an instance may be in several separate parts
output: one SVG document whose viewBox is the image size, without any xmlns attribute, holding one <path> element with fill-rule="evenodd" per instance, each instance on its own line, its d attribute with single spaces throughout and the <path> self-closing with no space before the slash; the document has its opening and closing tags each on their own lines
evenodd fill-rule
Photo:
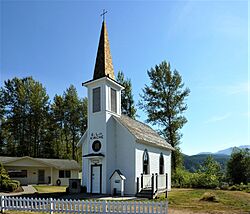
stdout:
<svg viewBox="0 0 250 214">
<path fill-rule="evenodd" d="M 43 199 L 1 196 L 0 208 L 53 213 L 124 213 L 124 214 L 167 214 L 167 202 L 155 201 L 97 201 L 97 200 L 67 200 Z"/>
</svg>

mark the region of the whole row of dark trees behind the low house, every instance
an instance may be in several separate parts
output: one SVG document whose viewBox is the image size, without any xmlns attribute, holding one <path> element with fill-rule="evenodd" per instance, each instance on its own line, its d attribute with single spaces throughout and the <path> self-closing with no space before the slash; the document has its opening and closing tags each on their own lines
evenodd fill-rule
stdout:
<svg viewBox="0 0 250 214">
<path fill-rule="evenodd" d="M 0 119 L 0 155 L 77 160 L 87 98 L 80 99 L 70 85 L 51 101 L 40 82 L 15 77 L 0 88 Z"/>
</svg>

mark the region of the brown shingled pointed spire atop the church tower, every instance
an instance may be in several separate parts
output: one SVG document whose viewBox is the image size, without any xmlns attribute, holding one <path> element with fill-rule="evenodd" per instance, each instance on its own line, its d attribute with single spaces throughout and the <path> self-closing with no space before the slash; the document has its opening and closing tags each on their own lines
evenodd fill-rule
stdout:
<svg viewBox="0 0 250 214">
<path fill-rule="evenodd" d="M 110 53 L 108 32 L 105 21 L 102 22 L 102 30 L 98 45 L 98 51 L 95 62 L 93 80 L 108 76 L 115 79 L 112 57 Z"/>
</svg>

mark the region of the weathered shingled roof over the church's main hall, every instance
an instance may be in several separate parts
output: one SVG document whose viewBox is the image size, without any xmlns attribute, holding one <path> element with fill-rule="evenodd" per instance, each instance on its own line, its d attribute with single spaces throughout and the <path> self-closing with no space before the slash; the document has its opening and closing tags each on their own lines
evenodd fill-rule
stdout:
<svg viewBox="0 0 250 214">
<path fill-rule="evenodd" d="M 128 131 L 136 138 L 138 143 L 146 143 L 153 146 L 174 150 L 174 148 L 150 126 L 125 115 L 113 117 L 128 129 Z"/>
</svg>

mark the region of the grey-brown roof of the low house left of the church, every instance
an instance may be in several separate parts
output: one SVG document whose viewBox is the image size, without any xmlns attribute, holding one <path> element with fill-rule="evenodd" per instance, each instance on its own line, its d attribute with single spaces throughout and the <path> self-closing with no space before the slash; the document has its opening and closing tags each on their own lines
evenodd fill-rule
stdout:
<svg viewBox="0 0 250 214">
<path fill-rule="evenodd" d="M 48 158 L 32 158 L 29 156 L 24 157 L 5 157 L 0 156 L 0 162 L 4 164 L 15 162 L 22 159 L 31 159 L 34 161 L 38 161 L 42 164 L 48 165 L 50 167 L 55 167 L 56 169 L 76 169 L 79 170 L 80 166 L 75 160 L 69 160 L 69 159 L 48 159 Z"/>
</svg>

